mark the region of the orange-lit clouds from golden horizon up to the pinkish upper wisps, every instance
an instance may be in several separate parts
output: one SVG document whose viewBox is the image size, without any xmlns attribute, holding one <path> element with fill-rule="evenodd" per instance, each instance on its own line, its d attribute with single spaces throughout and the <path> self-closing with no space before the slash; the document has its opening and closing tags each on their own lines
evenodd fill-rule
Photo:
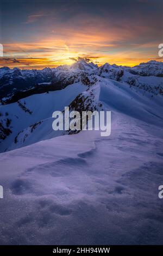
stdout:
<svg viewBox="0 0 163 256">
<path fill-rule="evenodd" d="M 27 22 L 40 17 L 41 14 L 30 15 Z M 123 26 L 115 24 L 107 27 L 103 18 L 87 17 L 82 20 L 78 17 L 77 24 L 73 27 L 71 25 L 74 21 L 72 18 L 65 27 L 55 25 L 55 31 L 53 25 L 50 25 L 49 36 L 42 32 L 28 43 L 4 44 L 4 59 L 0 59 L 0 65 L 42 69 L 45 66 L 72 64 L 81 57 L 89 58 L 98 65 L 108 62 L 134 66 L 158 57 L 157 40 L 143 43 L 137 40 L 138 34 L 141 36 L 149 33 L 150 28 L 146 26 L 123 23 Z"/>
</svg>

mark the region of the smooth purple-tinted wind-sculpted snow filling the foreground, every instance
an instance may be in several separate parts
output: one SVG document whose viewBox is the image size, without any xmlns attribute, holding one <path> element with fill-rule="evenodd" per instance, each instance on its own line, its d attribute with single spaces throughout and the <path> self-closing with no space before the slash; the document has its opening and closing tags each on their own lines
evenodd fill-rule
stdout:
<svg viewBox="0 0 163 256">
<path fill-rule="evenodd" d="M 162 244 L 162 130 L 114 114 L 112 133 L 0 154 L 1 244 Z"/>
</svg>

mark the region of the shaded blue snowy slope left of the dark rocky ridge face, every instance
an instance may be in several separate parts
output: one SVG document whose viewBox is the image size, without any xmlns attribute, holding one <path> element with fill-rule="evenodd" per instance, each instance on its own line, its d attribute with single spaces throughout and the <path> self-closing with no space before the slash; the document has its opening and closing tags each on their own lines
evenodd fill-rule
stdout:
<svg viewBox="0 0 163 256">
<path fill-rule="evenodd" d="M 7 119 L 11 120 L 8 127 L 11 133 L 7 138 L 0 139 L 0 152 L 55 137 L 52 129 L 52 113 L 56 110 L 62 111 L 83 90 L 85 86 L 76 83 L 64 90 L 29 96 L 19 101 L 28 111 L 22 109 L 18 102 L 1 106 L 1 123 L 7 128 Z M 8 115 L 6 116 L 5 113 Z M 45 127 L 42 127 L 42 124 Z M 33 138 L 28 138 L 31 134 Z"/>
</svg>

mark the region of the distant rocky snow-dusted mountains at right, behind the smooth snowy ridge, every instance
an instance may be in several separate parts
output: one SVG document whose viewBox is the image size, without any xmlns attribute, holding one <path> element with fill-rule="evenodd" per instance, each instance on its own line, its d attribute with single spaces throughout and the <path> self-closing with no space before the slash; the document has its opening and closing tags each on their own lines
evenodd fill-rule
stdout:
<svg viewBox="0 0 163 256">
<path fill-rule="evenodd" d="M 146 75 L 141 74 L 143 73 L 142 69 L 144 72 L 147 70 L 150 72 L 148 72 L 148 74 L 146 73 Z M 115 81 L 126 82 L 130 87 L 139 87 L 154 95 L 163 95 L 163 80 L 161 75 L 160 77 L 157 77 L 156 70 L 159 70 L 160 74 L 163 76 L 163 64 L 161 62 L 155 62 L 154 68 L 151 62 L 140 64 L 134 68 L 117 66 L 115 64 L 110 65 L 106 63 L 96 71 L 96 74 Z"/>
</svg>

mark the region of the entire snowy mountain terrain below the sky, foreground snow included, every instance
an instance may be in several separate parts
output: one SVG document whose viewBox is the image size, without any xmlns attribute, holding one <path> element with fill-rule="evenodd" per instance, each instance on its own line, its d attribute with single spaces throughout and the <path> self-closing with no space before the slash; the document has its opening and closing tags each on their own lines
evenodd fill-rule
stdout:
<svg viewBox="0 0 163 256">
<path fill-rule="evenodd" d="M 15 77 L 41 79 L 0 106 L 0 244 L 162 244 L 163 77 L 151 65 L 146 76 L 83 61 L 0 69 L 10 81 L 0 90 Z M 52 113 L 65 106 L 111 111 L 111 135 L 54 131 Z"/>
</svg>

